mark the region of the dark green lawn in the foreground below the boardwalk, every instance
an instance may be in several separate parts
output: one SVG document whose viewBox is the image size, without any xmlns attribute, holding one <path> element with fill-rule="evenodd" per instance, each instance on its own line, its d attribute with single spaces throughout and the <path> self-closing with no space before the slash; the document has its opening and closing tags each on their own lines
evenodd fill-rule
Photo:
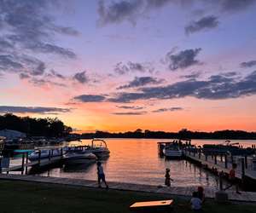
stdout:
<svg viewBox="0 0 256 213">
<path fill-rule="evenodd" d="M 0 212 L 130 212 L 134 201 L 174 199 L 173 212 L 193 212 L 189 199 L 153 193 L 67 187 L 26 181 L 0 181 Z M 256 213 L 256 204 L 204 204 L 207 213 Z"/>
</svg>

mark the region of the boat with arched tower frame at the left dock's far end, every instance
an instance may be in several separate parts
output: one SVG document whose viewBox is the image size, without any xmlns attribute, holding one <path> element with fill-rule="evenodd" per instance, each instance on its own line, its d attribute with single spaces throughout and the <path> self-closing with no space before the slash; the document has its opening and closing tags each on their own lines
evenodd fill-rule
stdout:
<svg viewBox="0 0 256 213">
<path fill-rule="evenodd" d="M 91 146 L 88 147 L 88 151 L 94 153 L 97 158 L 108 157 L 110 153 L 106 141 L 102 139 L 93 139 L 91 141 Z"/>
</svg>

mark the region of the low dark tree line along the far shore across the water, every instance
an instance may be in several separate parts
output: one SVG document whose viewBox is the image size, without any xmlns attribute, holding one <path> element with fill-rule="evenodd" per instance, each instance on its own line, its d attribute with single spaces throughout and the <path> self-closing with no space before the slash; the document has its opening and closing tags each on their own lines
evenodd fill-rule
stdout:
<svg viewBox="0 0 256 213">
<path fill-rule="evenodd" d="M 178 132 L 150 131 L 150 130 L 135 130 L 128 132 L 109 133 L 104 131 L 96 131 L 96 133 L 84 133 L 81 138 L 156 138 L 156 139 L 221 139 L 221 140 L 236 140 L 250 139 L 256 140 L 256 132 L 247 132 L 242 130 L 221 130 L 214 132 L 189 131 L 186 129 Z"/>
</svg>

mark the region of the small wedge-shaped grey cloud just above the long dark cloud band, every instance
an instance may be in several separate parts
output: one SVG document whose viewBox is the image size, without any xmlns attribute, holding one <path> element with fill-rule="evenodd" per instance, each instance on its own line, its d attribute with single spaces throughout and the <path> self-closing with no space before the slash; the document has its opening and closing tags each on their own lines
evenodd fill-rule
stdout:
<svg viewBox="0 0 256 213">
<path fill-rule="evenodd" d="M 119 86 L 117 89 L 128 89 L 128 88 L 136 88 L 142 87 L 148 84 L 159 84 L 163 83 L 163 79 L 157 79 L 152 77 L 136 77 L 130 83 L 125 84 L 123 86 Z"/>
</svg>

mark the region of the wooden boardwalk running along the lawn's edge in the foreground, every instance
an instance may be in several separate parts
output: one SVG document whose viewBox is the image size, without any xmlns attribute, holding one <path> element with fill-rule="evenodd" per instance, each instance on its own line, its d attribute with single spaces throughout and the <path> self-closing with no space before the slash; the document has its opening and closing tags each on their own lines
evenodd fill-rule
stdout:
<svg viewBox="0 0 256 213">
<path fill-rule="evenodd" d="M 97 181 L 73 179 L 73 178 L 61 178 L 61 177 L 47 177 L 47 176 L 26 176 L 26 175 L 14 175 L 14 174 L 0 174 L 0 180 L 16 180 L 16 181 L 33 181 L 42 182 L 49 184 L 62 184 L 67 186 L 77 186 L 77 187 L 92 187 L 97 188 Z M 170 198 L 172 195 L 191 198 L 192 193 L 196 191 L 197 187 L 159 187 L 152 185 L 142 185 L 135 183 L 124 183 L 108 181 L 108 186 L 110 189 L 114 190 L 124 190 L 124 191 L 136 191 L 136 192 L 146 192 L 146 193 L 163 193 L 169 194 Z M 206 198 L 214 199 L 215 193 L 217 191 L 211 187 L 205 188 Z M 256 203 L 256 193 L 253 192 L 241 192 L 237 194 L 236 191 L 227 190 L 230 201 L 242 201 L 242 202 L 255 202 Z"/>
</svg>

